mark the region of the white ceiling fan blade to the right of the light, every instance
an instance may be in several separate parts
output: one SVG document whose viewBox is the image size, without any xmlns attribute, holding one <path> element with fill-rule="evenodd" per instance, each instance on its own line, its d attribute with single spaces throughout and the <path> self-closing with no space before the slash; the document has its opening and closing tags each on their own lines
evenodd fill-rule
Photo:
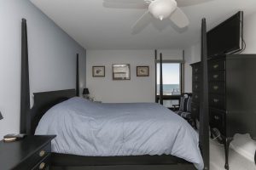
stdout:
<svg viewBox="0 0 256 170">
<path fill-rule="evenodd" d="M 189 19 L 180 8 L 176 8 L 170 17 L 170 20 L 180 28 L 189 26 Z"/>
</svg>

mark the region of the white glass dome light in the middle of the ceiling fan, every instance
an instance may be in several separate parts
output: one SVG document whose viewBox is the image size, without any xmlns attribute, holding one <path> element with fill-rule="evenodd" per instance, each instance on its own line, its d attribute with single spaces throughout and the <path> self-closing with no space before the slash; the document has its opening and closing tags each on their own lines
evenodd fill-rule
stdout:
<svg viewBox="0 0 256 170">
<path fill-rule="evenodd" d="M 164 20 L 169 18 L 176 8 L 175 0 L 154 0 L 149 4 L 148 10 L 154 18 Z"/>
</svg>

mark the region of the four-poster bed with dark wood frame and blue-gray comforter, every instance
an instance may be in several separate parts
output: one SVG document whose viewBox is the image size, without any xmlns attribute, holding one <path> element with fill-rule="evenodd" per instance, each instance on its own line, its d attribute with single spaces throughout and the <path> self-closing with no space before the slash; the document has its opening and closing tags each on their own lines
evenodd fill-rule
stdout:
<svg viewBox="0 0 256 170">
<path fill-rule="evenodd" d="M 202 48 L 205 49 L 206 20 L 202 21 L 202 40 Z M 167 111 L 159 104 L 110 105 L 92 103 L 76 98 L 75 96 L 79 93 L 75 89 L 34 93 L 34 105 L 30 110 L 26 20 L 22 20 L 21 49 L 20 133 L 57 133 L 57 137 L 52 143 L 55 153 L 51 158 L 52 166 L 50 169 L 189 170 L 195 169 L 195 167 L 197 169 L 208 169 L 209 141 L 206 96 L 201 98 L 204 99 L 201 102 L 204 105 L 201 105 L 199 137 L 185 120 L 172 113 L 172 111 Z M 202 59 L 206 59 L 204 50 L 202 50 Z M 160 59 L 160 65 L 161 63 Z M 206 63 L 202 67 L 207 74 L 207 71 L 205 71 L 207 69 Z M 77 80 L 77 87 L 78 82 Z M 207 82 L 202 83 L 204 83 L 202 87 L 207 88 Z M 207 93 L 202 93 L 202 95 L 207 95 Z M 161 97 L 162 94 L 160 94 L 160 99 Z M 95 109 L 96 111 L 94 111 Z M 103 115 L 104 113 L 105 115 Z M 160 114 L 160 116 L 157 114 Z M 83 117 L 87 118 L 84 119 Z M 62 121 L 60 121 L 61 119 Z M 73 119 L 76 119 L 76 121 L 73 121 Z M 84 121 L 82 121 L 83 119 Z M 49 122 L 49 120 L 58 122 Z M 96 122 L 97 120 L 102 122 Z M 105 123 L 108 126 L 103 126 L 105 125 L 104 122 L 108 122 Z M 73 126 L 73 123 L 82 126 Z M 67 125 L 70 125 L 70 127 Z M 98 133 L 92 133 L 98 130 L 99 126 L 102 126 L 101 130 Z M 64 127 L 65 130 L 63 130 Z M 75 129 L 70 130 L 74 127 Z M 115 127 L 120 127 L 119 131 Z M 156 129 L 160 133 L 152 133 Z M 118 139 L 114 139 L 115 135 L 111 135 L 109 131 L 118 133 L 119 135 L 116 135 Z M 135 131 L 137 133 L 134 133 Z M 99 135 L 101 132 L 104 133 Z M 151 133 L 146 135 L 145 132 Z M 61 133 L 65 134 L 61 136 Z M 90 150 L 86 150 L 86 148 L 95 143 L 87 142 L 86 144 L 84 142 L 88 140 L 88 138 L 84 139 L 84 136 L 88 137 L 88 134 L 91 135 L 90 140 L 99 143 L 92 146 Z M 124 135 L 128 134 L 133 135 L 133 138 L 127 136 L 124 138 Z M 130 143 L 129 139 L 131 139 Z M 64 140 L 67 140 L 67 142 L 63 142 Z M 63 147 L 60 146 L 61 144 Z M 74 146 L 80 148 L 74 149 L 72 148 Z M 84 148 L 85 150 L 83 150 Z"/>
</svg>

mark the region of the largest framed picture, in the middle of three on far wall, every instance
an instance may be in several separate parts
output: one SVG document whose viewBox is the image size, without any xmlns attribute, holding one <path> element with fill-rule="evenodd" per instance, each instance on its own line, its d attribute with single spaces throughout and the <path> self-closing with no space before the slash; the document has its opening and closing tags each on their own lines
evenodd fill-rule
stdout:
<svg viewBox="0 0 256 170">
<path fill-rule="evenodd" d="M 131 80 L 130 64 L 112 65 L 113 80 Z"/>
</svg>

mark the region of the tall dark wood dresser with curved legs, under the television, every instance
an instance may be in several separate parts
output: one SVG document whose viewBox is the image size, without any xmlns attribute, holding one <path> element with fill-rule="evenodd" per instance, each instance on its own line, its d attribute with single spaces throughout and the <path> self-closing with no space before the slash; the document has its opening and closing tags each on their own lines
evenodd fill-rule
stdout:
<svg viewBox="0 0 256 170">
<path fill-rule="evenodd" d="M 192 113 L 199 118 L 201 63 L 192 64 Z M 256 139 L 256 54 L 228 54 L 208 59 L 210 127 L 224 138 L 225 168 L 235 133 Z"/>
</svg>

